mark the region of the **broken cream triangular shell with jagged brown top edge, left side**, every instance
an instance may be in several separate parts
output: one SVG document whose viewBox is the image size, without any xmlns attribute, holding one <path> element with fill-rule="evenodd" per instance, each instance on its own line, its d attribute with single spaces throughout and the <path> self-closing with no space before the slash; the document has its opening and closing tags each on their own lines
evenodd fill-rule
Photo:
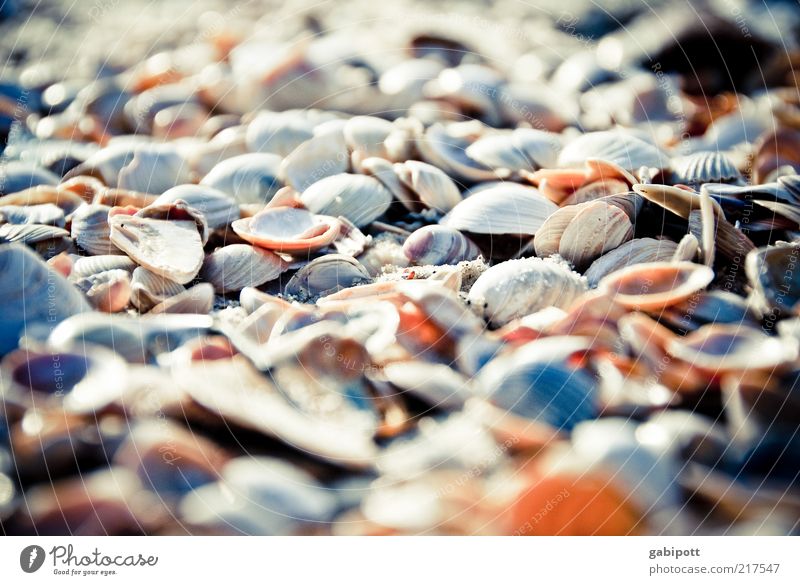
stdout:
<svg viewBox="0 0 800 585">
<path fill-rule="evenodd" d="M 147 217 L 160 213 L 160 207 L 145 208 L 135 215 L 112 212 L 111 242 L 140 266 L 185 284 L 203 264 L 205 234 L 198 232 L 198 218 L 180 205 L 164 208 L 167 214 L 173 214 L 173 219 Z"/>
</svg>

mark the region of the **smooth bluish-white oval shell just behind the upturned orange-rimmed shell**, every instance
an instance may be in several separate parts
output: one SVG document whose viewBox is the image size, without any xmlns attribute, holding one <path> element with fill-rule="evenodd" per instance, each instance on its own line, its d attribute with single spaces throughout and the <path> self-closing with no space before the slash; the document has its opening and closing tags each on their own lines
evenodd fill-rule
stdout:
<svg viewBox="0 0 800 585">
<path fill-rule="evenodd" d="M 373 177 L 342 173 L 317 181 L 300 200 L 312 213 L 341 215 L 363 227 L 389 209 L 392 194 Z"/>
</svg>

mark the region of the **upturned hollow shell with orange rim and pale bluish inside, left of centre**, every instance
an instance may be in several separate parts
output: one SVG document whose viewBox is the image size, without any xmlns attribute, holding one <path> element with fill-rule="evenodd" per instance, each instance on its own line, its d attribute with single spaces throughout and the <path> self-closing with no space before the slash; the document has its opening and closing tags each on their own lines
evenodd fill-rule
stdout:
<svg viewBox="0 0 800 585">
<path fill-rule="evenodd" d="M 253 217 L 234 221 L 232 227 L 242 239 L 255 246 L 302 254 L 333 243 L 340 233 L 341 222 L 305 209 L 269 207 Z"/>
</svg>

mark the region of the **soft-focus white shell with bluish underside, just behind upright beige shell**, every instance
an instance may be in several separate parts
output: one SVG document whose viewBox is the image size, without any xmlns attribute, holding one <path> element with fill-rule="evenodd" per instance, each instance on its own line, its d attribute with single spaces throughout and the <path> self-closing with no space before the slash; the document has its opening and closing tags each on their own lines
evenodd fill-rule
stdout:
<svg viewBox="0 0 800 585">
<path fill-rule="evenodd" d="M 259 112 L 248 124 L 245 140 L 250 152 L 288 156 L 314 136 L 314 125 L 296 112 Z"/>
</svg>

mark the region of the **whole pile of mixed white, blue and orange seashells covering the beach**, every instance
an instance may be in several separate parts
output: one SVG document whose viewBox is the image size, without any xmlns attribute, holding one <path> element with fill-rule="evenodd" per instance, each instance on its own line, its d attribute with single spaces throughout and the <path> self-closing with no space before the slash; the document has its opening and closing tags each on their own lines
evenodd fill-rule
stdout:
<svg viewBox="0 0 800 585">
<path fill-rule="evenodd" d="M 798 42 L 627 10 L 21 65 L 0 529 L 797 533 Z"/>
</svg>

